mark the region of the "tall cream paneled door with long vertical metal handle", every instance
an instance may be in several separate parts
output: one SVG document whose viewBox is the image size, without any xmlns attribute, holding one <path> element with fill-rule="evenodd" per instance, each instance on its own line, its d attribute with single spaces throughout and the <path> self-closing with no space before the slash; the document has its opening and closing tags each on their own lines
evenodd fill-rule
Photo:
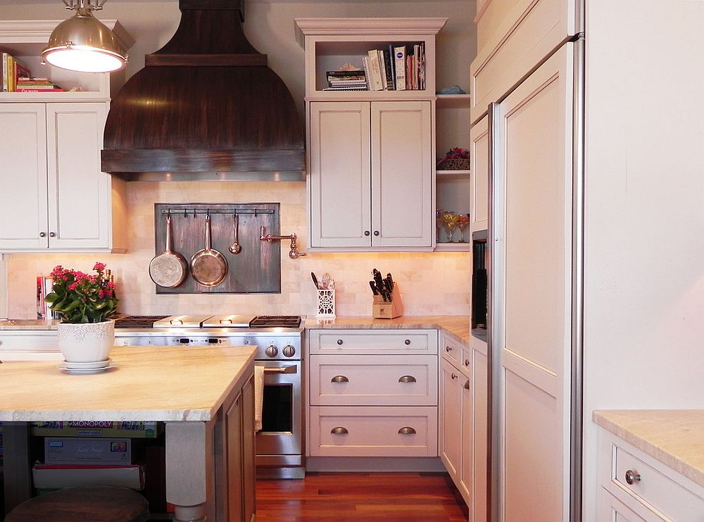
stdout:
<svg viewBox="0 0 704 522">
<path fill-rule="evenodd" d="M 501 102 L 493 130 L 505 522 L 569 518 L 572 63 L 566 44 Z"/>
</svg>

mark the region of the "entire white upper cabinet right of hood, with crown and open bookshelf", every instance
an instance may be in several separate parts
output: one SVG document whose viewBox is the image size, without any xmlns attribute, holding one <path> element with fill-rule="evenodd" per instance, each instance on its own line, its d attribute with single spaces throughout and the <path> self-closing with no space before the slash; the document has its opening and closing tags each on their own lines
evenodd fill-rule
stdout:
<svg viewBox="0 0 704 522">
<path fill-rule="evenodd" d="M 306 45 L 311 248 L 434 247 L 435 35 L 446 21 L 296 19 Z M 423 49 L 416 88 L 329 89 L 329 71 L 362 68 L 369 51 L 393 56 L 396 46 Z"/>
</svg>

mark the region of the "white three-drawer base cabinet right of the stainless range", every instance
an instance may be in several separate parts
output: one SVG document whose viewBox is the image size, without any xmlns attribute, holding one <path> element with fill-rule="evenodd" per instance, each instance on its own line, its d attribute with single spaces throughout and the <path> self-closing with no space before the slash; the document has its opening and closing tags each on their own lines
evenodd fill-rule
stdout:
<svg viewBox="0 0 704 522">
<path fill-rule="evenodd" d="M 309 330 L 309 456 L 438 456 L 436 330 Z"/>
</svg>

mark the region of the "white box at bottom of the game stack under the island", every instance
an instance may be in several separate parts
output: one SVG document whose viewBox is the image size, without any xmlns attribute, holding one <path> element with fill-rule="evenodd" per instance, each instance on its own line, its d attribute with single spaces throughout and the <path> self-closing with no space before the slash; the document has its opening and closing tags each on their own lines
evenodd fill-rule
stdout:
<svg viewBox="0 0 704 522">
<path fill-rule="evenodd" d="M 144 489 L 141 466 L 70 466 L 34 464 L 32 480 L 37 489 L 77 486 L 121 486 Z"/>
</svg>

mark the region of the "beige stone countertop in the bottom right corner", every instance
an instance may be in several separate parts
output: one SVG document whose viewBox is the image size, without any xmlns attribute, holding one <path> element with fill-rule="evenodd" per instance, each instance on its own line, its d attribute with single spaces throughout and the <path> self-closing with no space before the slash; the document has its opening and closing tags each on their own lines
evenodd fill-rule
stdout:
<svg viewBox="0 0 704 522">
<path fill-rule="evenodd" d="M 704 410 L 596 410 L 592 418 L 704 487 Z"/>
</svg>

